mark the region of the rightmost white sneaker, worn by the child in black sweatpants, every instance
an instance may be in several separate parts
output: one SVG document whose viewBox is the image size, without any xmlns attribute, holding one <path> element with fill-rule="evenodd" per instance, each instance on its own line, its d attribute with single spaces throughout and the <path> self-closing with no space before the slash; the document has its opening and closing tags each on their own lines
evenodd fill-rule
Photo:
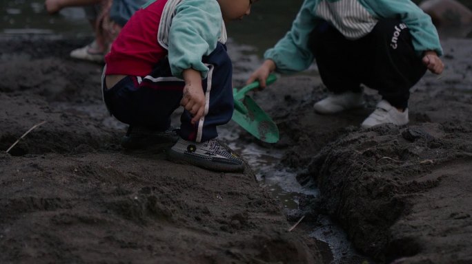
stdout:
<svg viewBox="0 0 472 264">
<path fill-rule="evenodd" d="M 397 126 L 402 126 L 408 124 L 408 109 L 405 109 L 403 112 L 398 111 L 395 107 L 387 102 L 382 100 L 377 104 L 377 109 L 371 113 L 371 115 L 362 122 L 361 126 L 364 129 L 375 126 L 377 124 L 386 124 L 392 123 Z"/>
</svg>

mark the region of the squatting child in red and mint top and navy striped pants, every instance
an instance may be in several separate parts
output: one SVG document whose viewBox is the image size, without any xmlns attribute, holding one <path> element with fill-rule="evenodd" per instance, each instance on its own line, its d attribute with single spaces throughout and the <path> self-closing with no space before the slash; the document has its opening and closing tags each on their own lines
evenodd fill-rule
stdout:
<svg viewBox="0 0 472 264">
<path fill-rule="evenodd" d="M 211 170 L 244 170 L 219 144 L 217 126 L 233 115 L 232 64 L 225 23 L 250 13 L 253 0 L 155 0 L 132 15 L 106 55 L 102 89 L 110 113 L 129 124 L 122 141 L 179 138 L 168 157 Z M 170 115 L 184 107 L 180 129 Z M 150 142 L 144 141 L 144 144 Z"/>
</svg>

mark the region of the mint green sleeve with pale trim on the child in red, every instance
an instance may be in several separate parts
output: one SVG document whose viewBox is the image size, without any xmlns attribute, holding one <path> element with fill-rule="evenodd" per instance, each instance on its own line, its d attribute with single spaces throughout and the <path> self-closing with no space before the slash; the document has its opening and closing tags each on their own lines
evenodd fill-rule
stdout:
<svg viewBox="0 0 472 264">
<path fill-rule="evenodd" d="M 149 1 L 144 5 L 146 8 Z M 217 46 L 226 43 L 226 27 L 216 0 L 168 0 L 161 14 L 157 41 L 168 50 L 170 69 L 181 78 L 193 68 L 206 78 L 208 67 L 201 62 Z"/>
</svg>

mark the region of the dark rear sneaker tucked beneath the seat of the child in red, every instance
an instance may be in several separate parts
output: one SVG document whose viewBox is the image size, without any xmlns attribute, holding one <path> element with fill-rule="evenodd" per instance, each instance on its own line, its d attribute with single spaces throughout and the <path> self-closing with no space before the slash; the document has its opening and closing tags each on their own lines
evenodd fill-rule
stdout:
<svg viewBox="0 0 472 264">
<path fill-rule="evenodd" d="M 141 126 L 129 126 L 126 135 L 121 138 L 121 146 L 126 149 L 138 149 L 155 144 L 174 143 L 179 139 L 179 129 L 170 126 L 166 131 L 155 131 Z"/>
</svg>

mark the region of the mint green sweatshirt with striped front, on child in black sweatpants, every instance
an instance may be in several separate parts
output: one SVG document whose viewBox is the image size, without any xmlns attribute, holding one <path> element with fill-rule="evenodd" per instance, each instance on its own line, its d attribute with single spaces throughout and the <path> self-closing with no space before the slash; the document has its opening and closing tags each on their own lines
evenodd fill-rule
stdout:
<svg viewBox="0 0 472 264">
<path fill-rule="evenodd" d="M 431 17 L 411 0 L 305 0 L 291 30 L 264 58 L 275 62 L 277 72 L 301 72 L 313 63 L 308 37 L 317 21 L 328 21 L 346 39 L 355 40 L 366 36 L 384 18 L 399 18 L 408 26 L 418 56 L 426 50 L 442 55 Z"/>
</svg>

